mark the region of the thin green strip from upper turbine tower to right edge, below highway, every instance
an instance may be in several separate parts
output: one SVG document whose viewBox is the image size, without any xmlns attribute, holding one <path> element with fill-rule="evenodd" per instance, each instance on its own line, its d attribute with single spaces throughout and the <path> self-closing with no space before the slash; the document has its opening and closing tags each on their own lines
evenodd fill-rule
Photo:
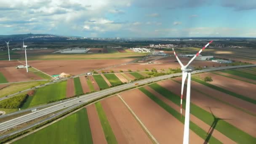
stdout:
<svg viewBox="0 0 256 144">
<path fill-rule="evenodd" d="M 250 102 L 250 103 L 256 104 L 256 100 L 255 100 L 255 99 L 251 99 L 251 98 L 248 98 L 248 97 L 246 97 L 246 96 L 243 96 L 243 95 L 234 93 L 234 92 L 232 92 L 232 91 L 228 91 L 228 90 L 226 90 L 226 89 L 224 89 L 224 88 L 220 88 L 220 87 L 218 87 L 218 86 L 216 86 L 216 85 L 212 85 L 212 84 L 210 84 L 210 83 L 206 83 L 206 82 L 204 82 L 203 80 L 199 80 L 199 79 L 194 78 L 194 77 L 191 77 L 191 79 L 192 79 L 193 81 L 197 82 L 197 83 L 206 85 L 206 86 L 208 86 L 208 87 L 210 87 L 210 88 L 213 88 L 213 89 L 216 89 L 217 91 L 221 91 L 221 92 L 223 92 L 223 93 L 229 94 L 230 96 L 234 96 L 234 97 L 236 97 L 236 98 L 238 98 L 238 99 L 242 99 L 242 100 L 244 100 L 244 101 L 248 101 L 248 102 Z"/>
</svg>

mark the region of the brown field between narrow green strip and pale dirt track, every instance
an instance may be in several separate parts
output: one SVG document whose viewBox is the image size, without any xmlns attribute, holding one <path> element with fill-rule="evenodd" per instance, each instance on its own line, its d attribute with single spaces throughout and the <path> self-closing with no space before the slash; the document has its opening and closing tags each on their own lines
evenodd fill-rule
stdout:
<svg viewBox="0 0 256 144">
<path fill-rule="evenodd" d="M 112 96 L 101 101 L 119 144 L 151 144 L 151 140 L 123 102 Z"/>
</svg>

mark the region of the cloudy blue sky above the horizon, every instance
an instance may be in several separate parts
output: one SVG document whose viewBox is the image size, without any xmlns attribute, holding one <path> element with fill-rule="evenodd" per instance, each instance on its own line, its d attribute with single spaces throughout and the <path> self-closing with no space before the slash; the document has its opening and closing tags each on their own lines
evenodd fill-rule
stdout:
<svg viewBox="0 0 256 144">
<path fill-rule="evenodd" d="M 256 37 L 256 0 L 0 0 L 0 35 Z"/>
</svg>

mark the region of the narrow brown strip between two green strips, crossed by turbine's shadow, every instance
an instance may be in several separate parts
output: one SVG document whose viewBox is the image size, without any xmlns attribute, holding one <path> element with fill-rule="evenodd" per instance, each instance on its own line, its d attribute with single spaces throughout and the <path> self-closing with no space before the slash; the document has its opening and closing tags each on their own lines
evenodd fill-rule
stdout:
<svg viewBox="0 0 256 144">
<path fill-rule="evenodd" d="M 172 101 L 170 101 L 169 99 L 166 99 L 164 96 L 162 96 L 161 94 L 157 93 L 156 91 L 154 91 L 152 88 L 150 88 L 149 86 L 144 87 L 147 89 L 147 91 L 149 91 L 150 93 L 154 94 L 157 98 L 161 99 L 163 102 L 165 102 L 165 104 L 168 104 L 170 107 L 172 107 L 173 109 L 175 109 L 177 112 L 180 112 L 180 107 L 176 104 L 174 104 Z M 182 109 L 182 115 L 185 115 L 185 109 Z M 200 128 L 202 128 L 204 131 L 208 132 L 209 129 L 211 128 L 210 125 L 204 123 L 202 120 L 198 119 L 197 117 L 195 117 L 194 115 L 190 114 L 190 121 L 192 121 L 193 123 L 195 123 L 197 126 L 199 126 Z M 212 133 L 212 136 L 215 137 L 216 139 L 218 139 L 219 141 L 221 141 L 223 144 L 235 144 L 235 141 L 232 141 L 231 139 L 229 139 L 227 136 L 223 135 L 222 133 L 220 133 L 217 130 L 214 130 Z"/>
</svg>

